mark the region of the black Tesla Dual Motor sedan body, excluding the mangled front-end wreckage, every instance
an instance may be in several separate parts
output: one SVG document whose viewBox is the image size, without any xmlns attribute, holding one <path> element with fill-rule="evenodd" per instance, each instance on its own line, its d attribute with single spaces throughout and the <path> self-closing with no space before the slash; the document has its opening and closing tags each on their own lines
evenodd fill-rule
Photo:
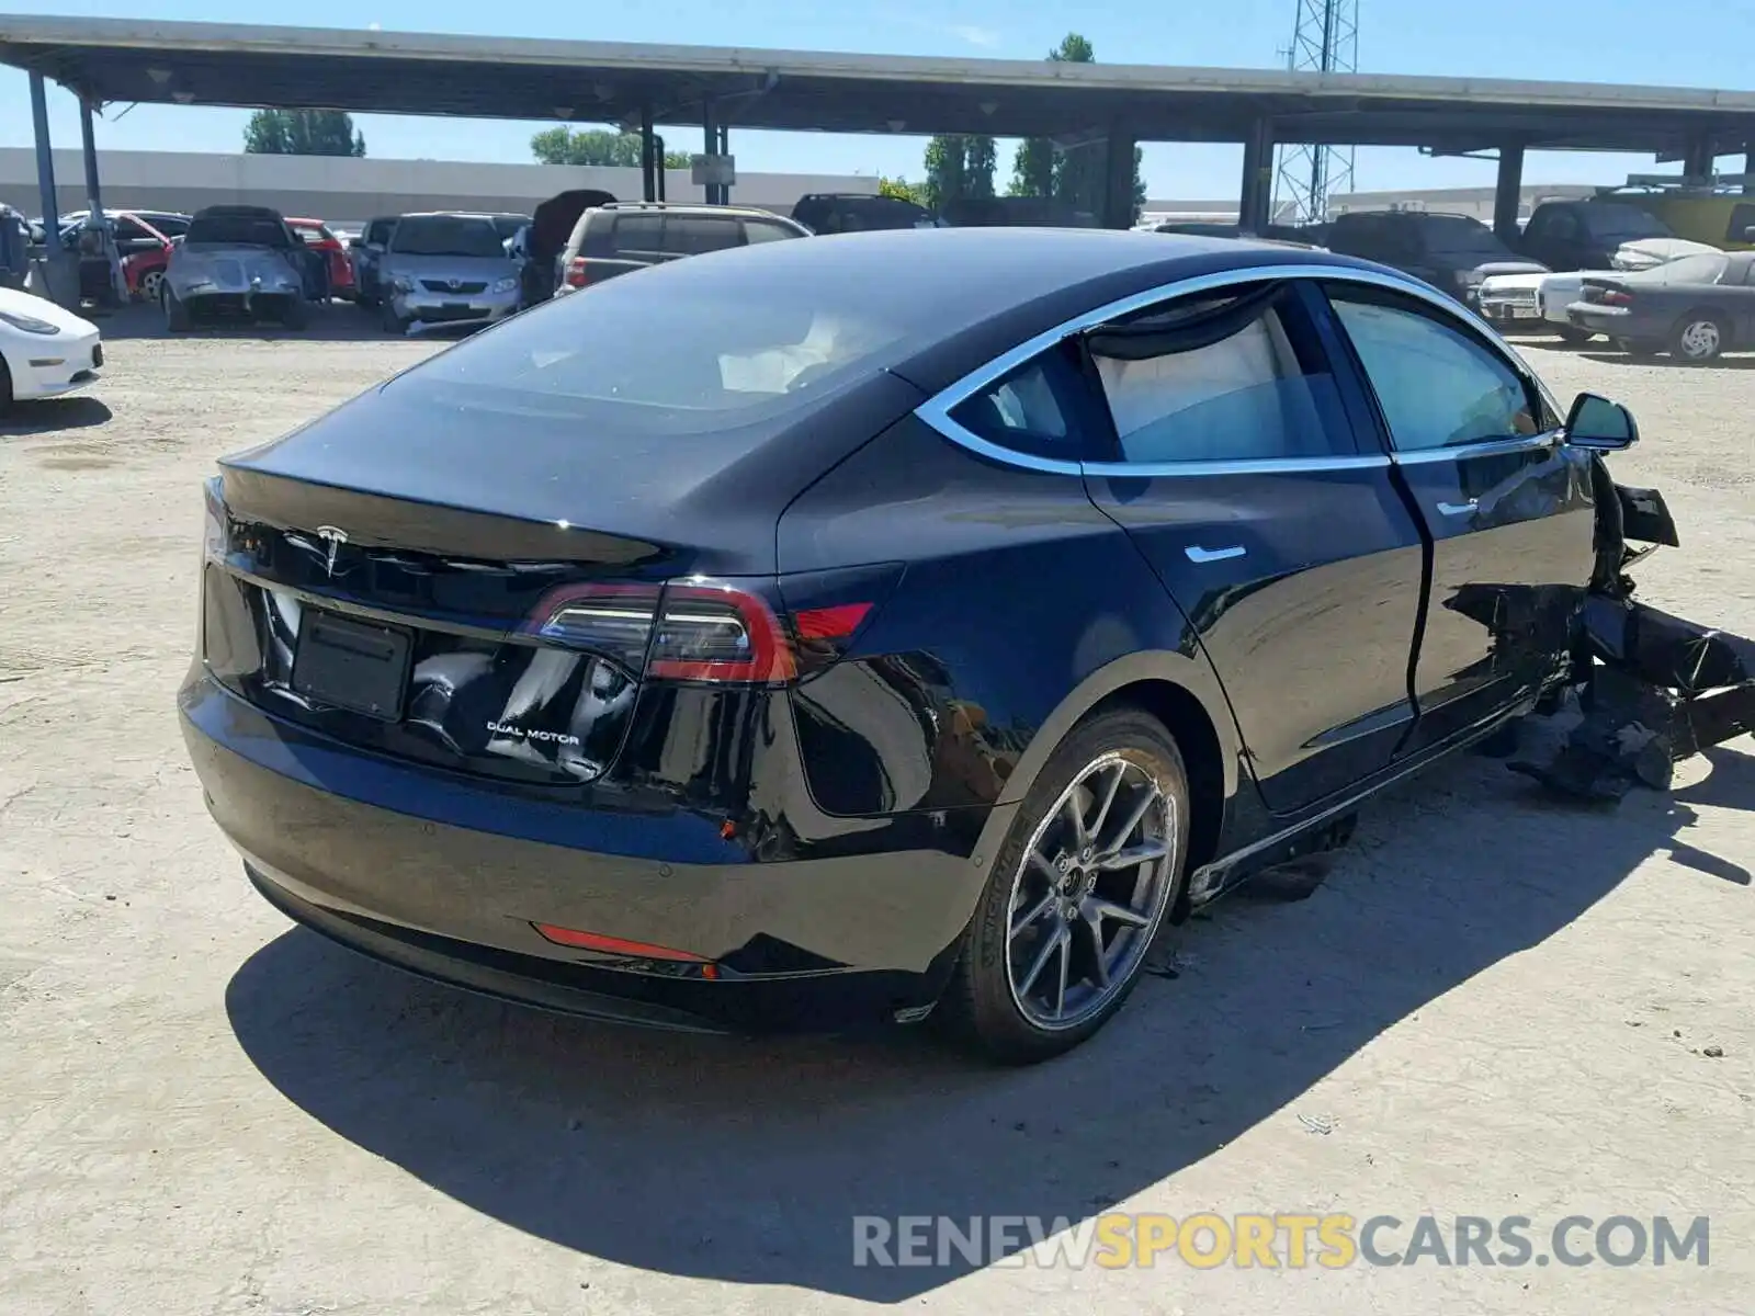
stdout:
<svg viewBox="0 0 1755 1316">
<path fill-rule="evenodd" d="M 714 253 L 225 460 L 184 733 L 261 895 L 381 960 L 1041 1058 L 1564 677 L 1634 437 L 1585 409 L 1327 253 Z"/>
</svg>

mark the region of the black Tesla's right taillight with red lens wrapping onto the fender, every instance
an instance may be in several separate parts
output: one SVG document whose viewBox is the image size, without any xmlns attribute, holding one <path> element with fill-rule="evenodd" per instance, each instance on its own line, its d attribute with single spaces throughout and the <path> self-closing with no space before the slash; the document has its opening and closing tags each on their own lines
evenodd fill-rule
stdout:
<svg viewBox="0 0 1755 1316">
<path fill-rule="evenodd" d="M 562 586 L 537 605 L 526 633 L 602 653 L 655 681 L 786 684 L 841 658 L 895 583 L 895 572 L 860 569 L 844 584 L 867 588 L 863 598 L 825 597 L 834 576 L 807 577 L 795 611 L 783 600 L 797 586 L 784 579 Z"/>
</svg>

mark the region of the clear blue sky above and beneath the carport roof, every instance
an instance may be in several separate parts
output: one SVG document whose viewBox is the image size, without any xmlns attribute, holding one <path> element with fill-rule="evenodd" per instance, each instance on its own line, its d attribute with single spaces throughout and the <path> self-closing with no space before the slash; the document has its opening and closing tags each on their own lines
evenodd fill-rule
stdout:
<svg viewBox="0 0 1755 1316">
<path fill-rule="evenodd" d="M 28 0 L 0 0 L 23 9 Z M 237 21 L 223 0 L 144 0 L 32 5 L 33 12 Z M 404 32 L 493 32 L 509 37 L 688 42 L 885 54 L 990 54 L 1039 58 L 1067 30 L 1085 33 L 1099 60 L 1225 67 L 1279 67 L 1292 35 L 1293 0 L 1218 4 L 1074 5 L 1065 0 L 642 0 L 634 5 L 481 5 L 465 0 L 300 0 L 258 11 L 269 21 Z M 1360 0 L 1360 68 L 1555 81 L 1648 82 L 1755 89 L 1751 0 Z M 56 146 L 79 146 L 77 109 L 51 91 Z M 119 109 L 119 107 L 118 107 Z M 114 116 L 116 111 L 112 109 Z M 140 105 L 100 121 L 98 147 L 237 151 L 244 111 Z M 530 160 L 530 135 L 548 125 L 358 116 L 374 156 Z M 669 133 L 677 149 L 698 149 Z M 0 146 L 30 146 L 30 100 L 21 72 L 0 68 Z M 742 170 L 902 174 L 920 177 L 925 146 L 906 137 L 732 132 Z M 1230 197 L 1241 147 L 1146 147 L 1153 197 Z M 1543 154 L 1529 182 L 1613 182 L 1650 170 L 1639 156 Z M 1722 165 L 1730 168 L 1727 161 Z M 1000 184 L 1011 168 L 1000 147 Z M 1492 182 L 1490 163 L 1427 160 L 1413 151 L 1360 151 L 1357 186 L 1443 188 Z"/>
</svg>

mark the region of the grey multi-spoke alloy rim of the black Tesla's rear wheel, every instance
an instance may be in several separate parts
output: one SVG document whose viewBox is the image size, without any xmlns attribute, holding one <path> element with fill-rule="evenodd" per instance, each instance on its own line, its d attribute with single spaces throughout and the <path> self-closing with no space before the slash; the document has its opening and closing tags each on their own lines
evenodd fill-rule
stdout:
<svg viewBox="0 0 1755 1316">
<path fill-rule="evenodd" d="M 1178 853 L 1176 800 L 1146 755 L 1085 767 L 1030 837 L 1011 884 L 1006 974 L 1035 1028 L 1076 1028 L 1132 981 Z"/>
</svg>

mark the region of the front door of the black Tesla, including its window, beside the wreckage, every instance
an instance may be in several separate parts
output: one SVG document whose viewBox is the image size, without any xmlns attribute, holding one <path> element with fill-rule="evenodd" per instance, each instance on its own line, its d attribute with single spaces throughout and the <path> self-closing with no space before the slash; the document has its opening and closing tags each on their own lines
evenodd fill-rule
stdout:
<svg viewBox="0 0 1755 1316">
<path fill-rule="evenodd" d="M 1418 749 L 1564 669 L 1595 563 L 1590 454 L 1560 440 L 1515 354 L 1437 298 L 1353 281 L 1325 291 L 1432 544 Z"/>
</svg>

